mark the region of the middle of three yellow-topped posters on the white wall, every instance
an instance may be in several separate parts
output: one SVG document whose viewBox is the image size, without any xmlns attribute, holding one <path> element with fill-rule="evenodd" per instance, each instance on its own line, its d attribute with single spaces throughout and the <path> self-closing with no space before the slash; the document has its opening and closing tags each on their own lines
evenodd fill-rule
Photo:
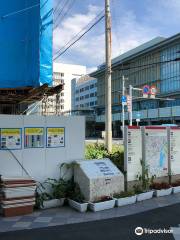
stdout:
<svg viewBox="0 0 180 240">
<path fill-rule="evenodd" d="M 42 148 L 44 147 L 44 128 L 24 128 L 24 147 Z"/>
</svg>

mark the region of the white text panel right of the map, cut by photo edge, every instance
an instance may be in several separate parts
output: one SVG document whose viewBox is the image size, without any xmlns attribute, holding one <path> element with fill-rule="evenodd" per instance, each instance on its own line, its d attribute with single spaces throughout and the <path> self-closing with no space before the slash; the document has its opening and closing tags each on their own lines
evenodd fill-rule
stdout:
<svg viewBox="0 0 180 240">
<path fill-rule="evenodd" d="M 180 128 L 170 128 L 171 174 L 180 174 Z"/>
</svg>

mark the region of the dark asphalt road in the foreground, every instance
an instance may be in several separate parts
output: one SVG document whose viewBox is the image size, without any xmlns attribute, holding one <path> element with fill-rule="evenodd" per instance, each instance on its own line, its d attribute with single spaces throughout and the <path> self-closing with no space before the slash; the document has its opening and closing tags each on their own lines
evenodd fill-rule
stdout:
<svg viewBox="0 0 180 240">
<path fill-rule="evenodd" d="M 137 236 L 134 230 L 136 227 L 164 229 L 176 227 L 179 223 L 180 204 L 176 204 L 109 220 L 1 233 L 0 240 L 174 240 L 172 234 Z"/>
</svg>

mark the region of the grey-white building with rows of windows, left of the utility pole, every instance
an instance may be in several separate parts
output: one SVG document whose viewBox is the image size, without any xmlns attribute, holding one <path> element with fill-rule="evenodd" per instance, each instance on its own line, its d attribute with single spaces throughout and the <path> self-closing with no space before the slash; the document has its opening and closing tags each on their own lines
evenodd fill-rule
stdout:
<svg viewBox="0 0 180 240">
<path fill-rule="evenodd" d="M 72 109 L 94 109 L 97 106 L 97 79 L 86 75 L 74 81 Z"/>
</svg>

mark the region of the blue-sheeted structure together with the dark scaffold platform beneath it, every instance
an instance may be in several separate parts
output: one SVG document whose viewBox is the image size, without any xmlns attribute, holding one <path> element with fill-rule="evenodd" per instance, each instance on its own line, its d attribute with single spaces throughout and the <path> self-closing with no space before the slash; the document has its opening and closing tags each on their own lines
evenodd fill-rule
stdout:
<svg viewBox="0 0 180 240">
<path fill-rule="evenodd" d="M 63 84 L 53 84 L 52 6 L 51 0 L 24 0 L 1 7 L 0 114 L 26 114 L 42 102 L 46 115 L 54 95 L 58 106 Z"/>
</svg>

